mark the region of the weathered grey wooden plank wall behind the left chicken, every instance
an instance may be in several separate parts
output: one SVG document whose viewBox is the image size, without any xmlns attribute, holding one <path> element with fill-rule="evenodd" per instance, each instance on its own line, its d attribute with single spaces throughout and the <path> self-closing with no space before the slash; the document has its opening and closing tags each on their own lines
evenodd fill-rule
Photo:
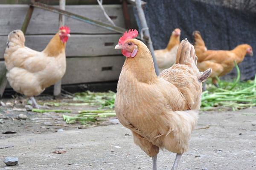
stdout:
<svg viewBox="0 0 256 170">
<path fill-rule="evenodd" d="M 116 26 L 125 28 L 122 5 L 104 7 Z M 10 31 L 21 28 L 28 8 L 28 5 L 0 5 L 0 68 L 5 67 L 3 54 L 7 35 Z M 128 8 L 132 28 L 137 28 L 132 6 Z M 66 10 L 109 23 L 98 5 L 66 6 Z M 71 37 L 66 47 L 67 70 L 62 84 L 117 80 L 125 59 L 119 50 L 114 50 L 121 34 L 68 17 L 65 17 L 65 25 L 70 27 Z M 25 45 L 42 51 L 57 31 L 58 14 L 35 8 L 25 36 Z"/>
</svg>

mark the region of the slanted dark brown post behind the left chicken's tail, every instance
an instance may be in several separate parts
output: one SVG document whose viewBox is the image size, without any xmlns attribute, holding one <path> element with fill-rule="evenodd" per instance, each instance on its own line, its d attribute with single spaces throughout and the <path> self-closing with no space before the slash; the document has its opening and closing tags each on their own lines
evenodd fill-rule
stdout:
<svg viewBox="0 0 256 170">
<path fill-rule="evenodd" d="M 34 11 L 34 6 L 29 6 L 29 9 L 26 13 L 26 17 L 25 17 L 22 27 L 21 27 L 21 31 L 24 33 L 24 35 L 26 34 L 26 30 L 29 26 L 29 22 L 32 17 L 33 11 Z M 6 68 L 3 68 L 3 71 L 1 71 L 1 73 L 2 73 L 2 75 L 0 75 L 0 78 L 1 78 L 0 79 L 0 98 L 3 96 L 3 92 L 7 85 L 7 78 L 6 78 L 7 70 L 6 70 Z"/>
</svg>

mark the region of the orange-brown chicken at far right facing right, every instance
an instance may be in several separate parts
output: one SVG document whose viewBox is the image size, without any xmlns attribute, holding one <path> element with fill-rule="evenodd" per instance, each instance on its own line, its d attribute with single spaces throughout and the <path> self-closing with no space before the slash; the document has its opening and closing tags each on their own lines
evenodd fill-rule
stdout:
<svg viewBox="0 0 256 170">
<path fill-rule="evenodd" d="M 248 44 L 238 45 L 230 51 L 207 50 L 199 31 L 194 31 L 193 37 L 195 40 L 195 54 L 198 57 L 197 66 L 200 71 L 212 68 L 210 77 L 212 77 L 212 83 L 216 87 L 218 87 L 216 76 L 221 77 L 232 71 L 235 67 L 234 61 L 239 64 L 244 60 L 246 54 L 253 56 L 253 48 Z"/>
</svg>

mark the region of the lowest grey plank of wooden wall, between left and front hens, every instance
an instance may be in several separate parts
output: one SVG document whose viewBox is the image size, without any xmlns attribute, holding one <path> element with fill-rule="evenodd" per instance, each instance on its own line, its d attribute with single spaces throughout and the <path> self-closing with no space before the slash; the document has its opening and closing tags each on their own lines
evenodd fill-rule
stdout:
<svg viewBox="0 0 256 170">
<path fill-rule="evenodd" d="M 74 57 L 67 58 L 66 74 L 61 80 L 62 85 L 82 84 L 88 82 L 105 82 L 118 80 L 125 57 Z M 4 68 L 0 61 L 0 68 Z M 0 79 L 5 76 L 0 74 Z M 6 88 L 11 88 L 8 84 Z"/>
</svg>

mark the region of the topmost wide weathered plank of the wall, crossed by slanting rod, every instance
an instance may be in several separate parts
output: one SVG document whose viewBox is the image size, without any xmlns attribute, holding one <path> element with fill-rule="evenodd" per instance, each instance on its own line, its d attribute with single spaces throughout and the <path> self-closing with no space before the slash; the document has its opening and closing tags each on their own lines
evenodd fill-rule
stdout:
<svg viewBox="0 0 256 170">
<path fill-rule="evenodd" d="M 104 7 L 116 26 L 125 28 L 122 5 L 105 5 Z M 28 8 L 28 5 L 0 5 L 0 35 L 7 35 L 12 30 L 20 29 Z M 129 6 L 129 8 L 129 11 L 133 13 L 132 6 Z M 66 10 L 93 20 L 109 23 L 98 5 L 66 6 Z M 115 33 L 104 28 L 74 20 L 70 17 L 66 17 L 65 24 L 70 27 L 71 33 L 73 34 Z M 55 34 L 57 30 L 58 14 L 35 8 L 26 34 Z"/>
</svg>

